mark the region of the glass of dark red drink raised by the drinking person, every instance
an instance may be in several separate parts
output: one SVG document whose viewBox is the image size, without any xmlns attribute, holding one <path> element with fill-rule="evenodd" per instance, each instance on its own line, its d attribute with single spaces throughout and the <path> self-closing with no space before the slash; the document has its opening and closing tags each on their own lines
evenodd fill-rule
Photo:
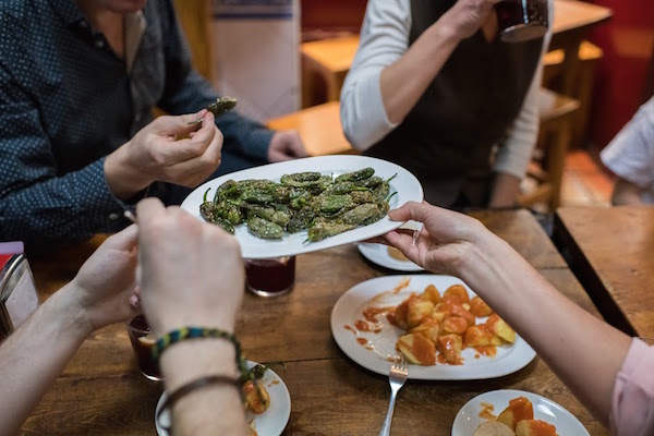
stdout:
<svg viewBox="0 0 654 436">
<path fill-rule="evenodd" d="M 499 37 L 507 43 L 540 38 L 547 32 L 547 0 L 502 0 L 495 4 Z"/>
</svg>

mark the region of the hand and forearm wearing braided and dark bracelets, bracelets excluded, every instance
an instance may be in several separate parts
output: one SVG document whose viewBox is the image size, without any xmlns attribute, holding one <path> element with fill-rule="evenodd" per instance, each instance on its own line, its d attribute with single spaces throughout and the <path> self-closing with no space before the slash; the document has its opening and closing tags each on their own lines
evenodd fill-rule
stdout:
<svg viewBox="0 0 654 436">
<path fill-rule="evenodd" d="M 153 331 L 161 336 L 184 326 L 233 331 L 244 289 L 237 240 L 155 198 L 141 202 L 137 211 L 141 298 Z M 168 391 L 206 375 L 238 376 L 234 348 L 223 339 L 175 343 L 160 365 Z M 183 397 L 172 408 L 172 425 L 175 435 L 247 434 L 239 389 L 226 385 Z"/>
</svg>

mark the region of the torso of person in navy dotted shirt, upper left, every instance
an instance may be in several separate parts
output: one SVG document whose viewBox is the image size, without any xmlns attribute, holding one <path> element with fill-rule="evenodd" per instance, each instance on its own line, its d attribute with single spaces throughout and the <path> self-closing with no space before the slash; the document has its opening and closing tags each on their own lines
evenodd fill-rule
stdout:
<svg viewBox="0 0 654 436">
<path fill-rule="evenodd" d="M 148 24 L 131 75 L 73 1 L 10 1 L 2 8 L 3 20 L 19 20 L 24 29 L 3 61 L 36 107 L 59 173 L 106 156 L 152 120 L 166 80 L 157 3 L 144 11 Z"/>
</svg>

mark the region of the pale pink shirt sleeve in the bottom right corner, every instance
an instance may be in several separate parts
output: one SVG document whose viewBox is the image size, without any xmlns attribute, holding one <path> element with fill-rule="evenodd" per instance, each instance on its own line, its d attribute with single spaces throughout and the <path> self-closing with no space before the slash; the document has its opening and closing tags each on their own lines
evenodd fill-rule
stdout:
<svg viewBox="0 0 654 436">
<path fill-rule="evenodd" d="M 634 338 L 618 372 L 610 408 L 616 436 L 654 434 L 654 347 Z"/>
</svg>

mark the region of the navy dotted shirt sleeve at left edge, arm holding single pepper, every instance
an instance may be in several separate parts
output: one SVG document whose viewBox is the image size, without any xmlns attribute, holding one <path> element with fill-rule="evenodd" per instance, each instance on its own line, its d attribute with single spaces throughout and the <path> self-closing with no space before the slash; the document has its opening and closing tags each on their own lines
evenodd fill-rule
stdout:
<svg viewBox="0 0 654 436">
<path fill-rule="evenodd" d="M 0 240 L 34 252 L 117 227 L 125 204 L 105 180 L 104 159 L 58 173 L 37 108 L 0 65 Z"/>
</svg>

